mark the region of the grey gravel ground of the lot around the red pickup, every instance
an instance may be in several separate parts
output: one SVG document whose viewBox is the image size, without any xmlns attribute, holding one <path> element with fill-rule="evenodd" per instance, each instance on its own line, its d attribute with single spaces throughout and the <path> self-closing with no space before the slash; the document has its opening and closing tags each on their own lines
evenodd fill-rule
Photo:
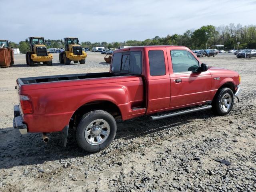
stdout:
<svg viewBox="0 0 256 192">
<path fill-rule="evenodd" d="M 242 102 L 227 116 L 118 120 L 115 140 L 94 154 L 80 150 L 72 132 L 63 148 L 58 133 L 44 144 L 41 134 L 12 128 L 16 78 L 108 71 L 103 57 L 88 53 L 86 64 L 65 66 L 54 54 L 53 66 L 28 67 L 18 55 L 0 69 L 0 191 L 256 191 L 255 58 L 200 58 L 242 77 Z"/>
</svg>

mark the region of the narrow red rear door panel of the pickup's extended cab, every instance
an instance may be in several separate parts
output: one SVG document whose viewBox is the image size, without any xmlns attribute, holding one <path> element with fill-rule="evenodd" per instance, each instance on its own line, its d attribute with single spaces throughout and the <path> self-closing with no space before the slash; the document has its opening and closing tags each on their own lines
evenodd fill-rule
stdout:
<svg viewBox="0 0 256 192">
<path fill-rule="evenodd" d="M 147 114 L 169 108 L 171 83 L 166 48 L 144 48 Z"/>
</svg>

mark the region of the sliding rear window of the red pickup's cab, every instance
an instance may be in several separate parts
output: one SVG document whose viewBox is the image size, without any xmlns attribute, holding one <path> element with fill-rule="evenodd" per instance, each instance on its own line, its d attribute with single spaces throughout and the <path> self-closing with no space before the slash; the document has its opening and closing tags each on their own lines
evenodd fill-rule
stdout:
<svg viewBox="0 0 256 192">
<path fill-rule="evenodd" d="M 115 53 L 111 71 L 140 75 L 142 73 L 142 54 L 140 51 Z"/>
</svg>

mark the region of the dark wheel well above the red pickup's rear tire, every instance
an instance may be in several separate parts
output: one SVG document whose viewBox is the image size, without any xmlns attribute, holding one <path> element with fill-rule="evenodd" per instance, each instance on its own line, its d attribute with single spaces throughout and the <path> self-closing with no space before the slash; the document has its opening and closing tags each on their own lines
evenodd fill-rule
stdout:
<svg viewBox="0 0 256 192">
<path fill-rule="evenodd" d="M 120 109 L 118 106 L 116 106 L 116 104 L 110 101 L 94 101 L 80 106 L 80 108 L 78 108 L 72 115 L 69 124 L 71 127 L 76 127 L 84 114 L 94 110 L 104 110 L 110 113 L 114 118 L 119 118 L 121 116 Z"/>
</svg>

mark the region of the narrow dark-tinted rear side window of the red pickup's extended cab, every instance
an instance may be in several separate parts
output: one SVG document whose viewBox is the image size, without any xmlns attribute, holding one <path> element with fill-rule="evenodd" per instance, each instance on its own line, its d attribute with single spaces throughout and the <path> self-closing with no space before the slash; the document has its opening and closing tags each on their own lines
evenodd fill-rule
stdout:
<svg viewBox="0 0 256 192">
<path fill-rule="evenodd" d="M 162 50 L 149 51 L 148 59 L 151 76 L 160 76 L 166 74 L 164 52 Z"/>
</svg>

